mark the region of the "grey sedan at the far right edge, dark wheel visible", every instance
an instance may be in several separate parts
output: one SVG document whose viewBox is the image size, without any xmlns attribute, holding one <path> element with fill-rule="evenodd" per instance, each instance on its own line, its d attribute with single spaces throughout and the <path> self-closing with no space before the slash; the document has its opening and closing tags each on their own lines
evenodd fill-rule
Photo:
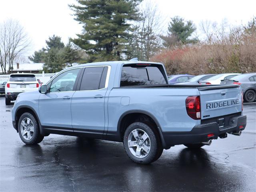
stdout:
<svg viewBox="0 0 256 192">
<path fill-rule="evenodd" d="M 239 84 L 246 102 L 254 102 L 256 99 L 256 73 L 242 74 L 230 80 L 222 80 L 221 84 Z"/>
</svg>

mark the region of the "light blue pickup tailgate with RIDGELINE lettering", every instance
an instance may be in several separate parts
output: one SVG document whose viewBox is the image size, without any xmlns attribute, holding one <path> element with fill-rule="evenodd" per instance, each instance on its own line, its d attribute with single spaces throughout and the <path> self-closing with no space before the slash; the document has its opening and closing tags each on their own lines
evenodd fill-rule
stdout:
<svg viewBox="0 0 256 192">
<path fill-rule="evenodd" d="M 214 118 L 242 111 L 242 94 L 237 85 L 198 88 L 201 119 Z"/>
</svg>

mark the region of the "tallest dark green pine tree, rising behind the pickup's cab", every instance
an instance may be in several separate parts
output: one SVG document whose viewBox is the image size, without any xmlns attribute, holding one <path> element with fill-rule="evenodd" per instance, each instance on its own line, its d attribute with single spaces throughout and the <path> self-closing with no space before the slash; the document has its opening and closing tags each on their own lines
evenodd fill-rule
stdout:
<svg viewBox="0 0 256 192">
<path fill-rule="evenodd" d="M 89 62 L 121 60 L 130 37 L 128 22 L 139 18 L 137 5 L 142 0 L 79 0 L 70 5 L 75 20 L 83 24 L 84 32 L 72 39 L 86 50 Z"/>
</svg>

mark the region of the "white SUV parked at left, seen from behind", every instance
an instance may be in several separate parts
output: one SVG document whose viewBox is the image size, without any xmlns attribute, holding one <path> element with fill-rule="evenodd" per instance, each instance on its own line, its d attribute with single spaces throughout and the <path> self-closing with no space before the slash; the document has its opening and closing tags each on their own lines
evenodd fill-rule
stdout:
<svg viewBox="0 0 256 192">
<path fill-rule="evenodd" d="M 38 87 L 39 83 L 34 74 L 10 74 L 8 82 L 5 85 L 5 104 L 9 105 L 11 101 L 16 100 L 18 94 L 26 91 L 38 90 Z"/>
</svg>

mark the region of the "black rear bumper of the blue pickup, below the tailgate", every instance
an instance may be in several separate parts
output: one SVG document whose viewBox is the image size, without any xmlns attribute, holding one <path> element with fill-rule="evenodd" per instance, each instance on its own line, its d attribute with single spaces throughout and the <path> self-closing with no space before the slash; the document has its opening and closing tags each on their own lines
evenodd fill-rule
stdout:
<svg viewBox="0 0 256 192">
<path fill-rule="evenodd" d="M 246 127 L 246 116 L 240 115 L 230 118 L 230 124 L 219 128 L 217 122 L 194 126 L 189 132 L 162 132 L 167 146 L 179 144 L 191 144 L 207 142 L 209 139 L 217 139 L 220 134 L 239 132 Z M 208 138 L 208 134 L 214 134 Z"/>
</svg>

